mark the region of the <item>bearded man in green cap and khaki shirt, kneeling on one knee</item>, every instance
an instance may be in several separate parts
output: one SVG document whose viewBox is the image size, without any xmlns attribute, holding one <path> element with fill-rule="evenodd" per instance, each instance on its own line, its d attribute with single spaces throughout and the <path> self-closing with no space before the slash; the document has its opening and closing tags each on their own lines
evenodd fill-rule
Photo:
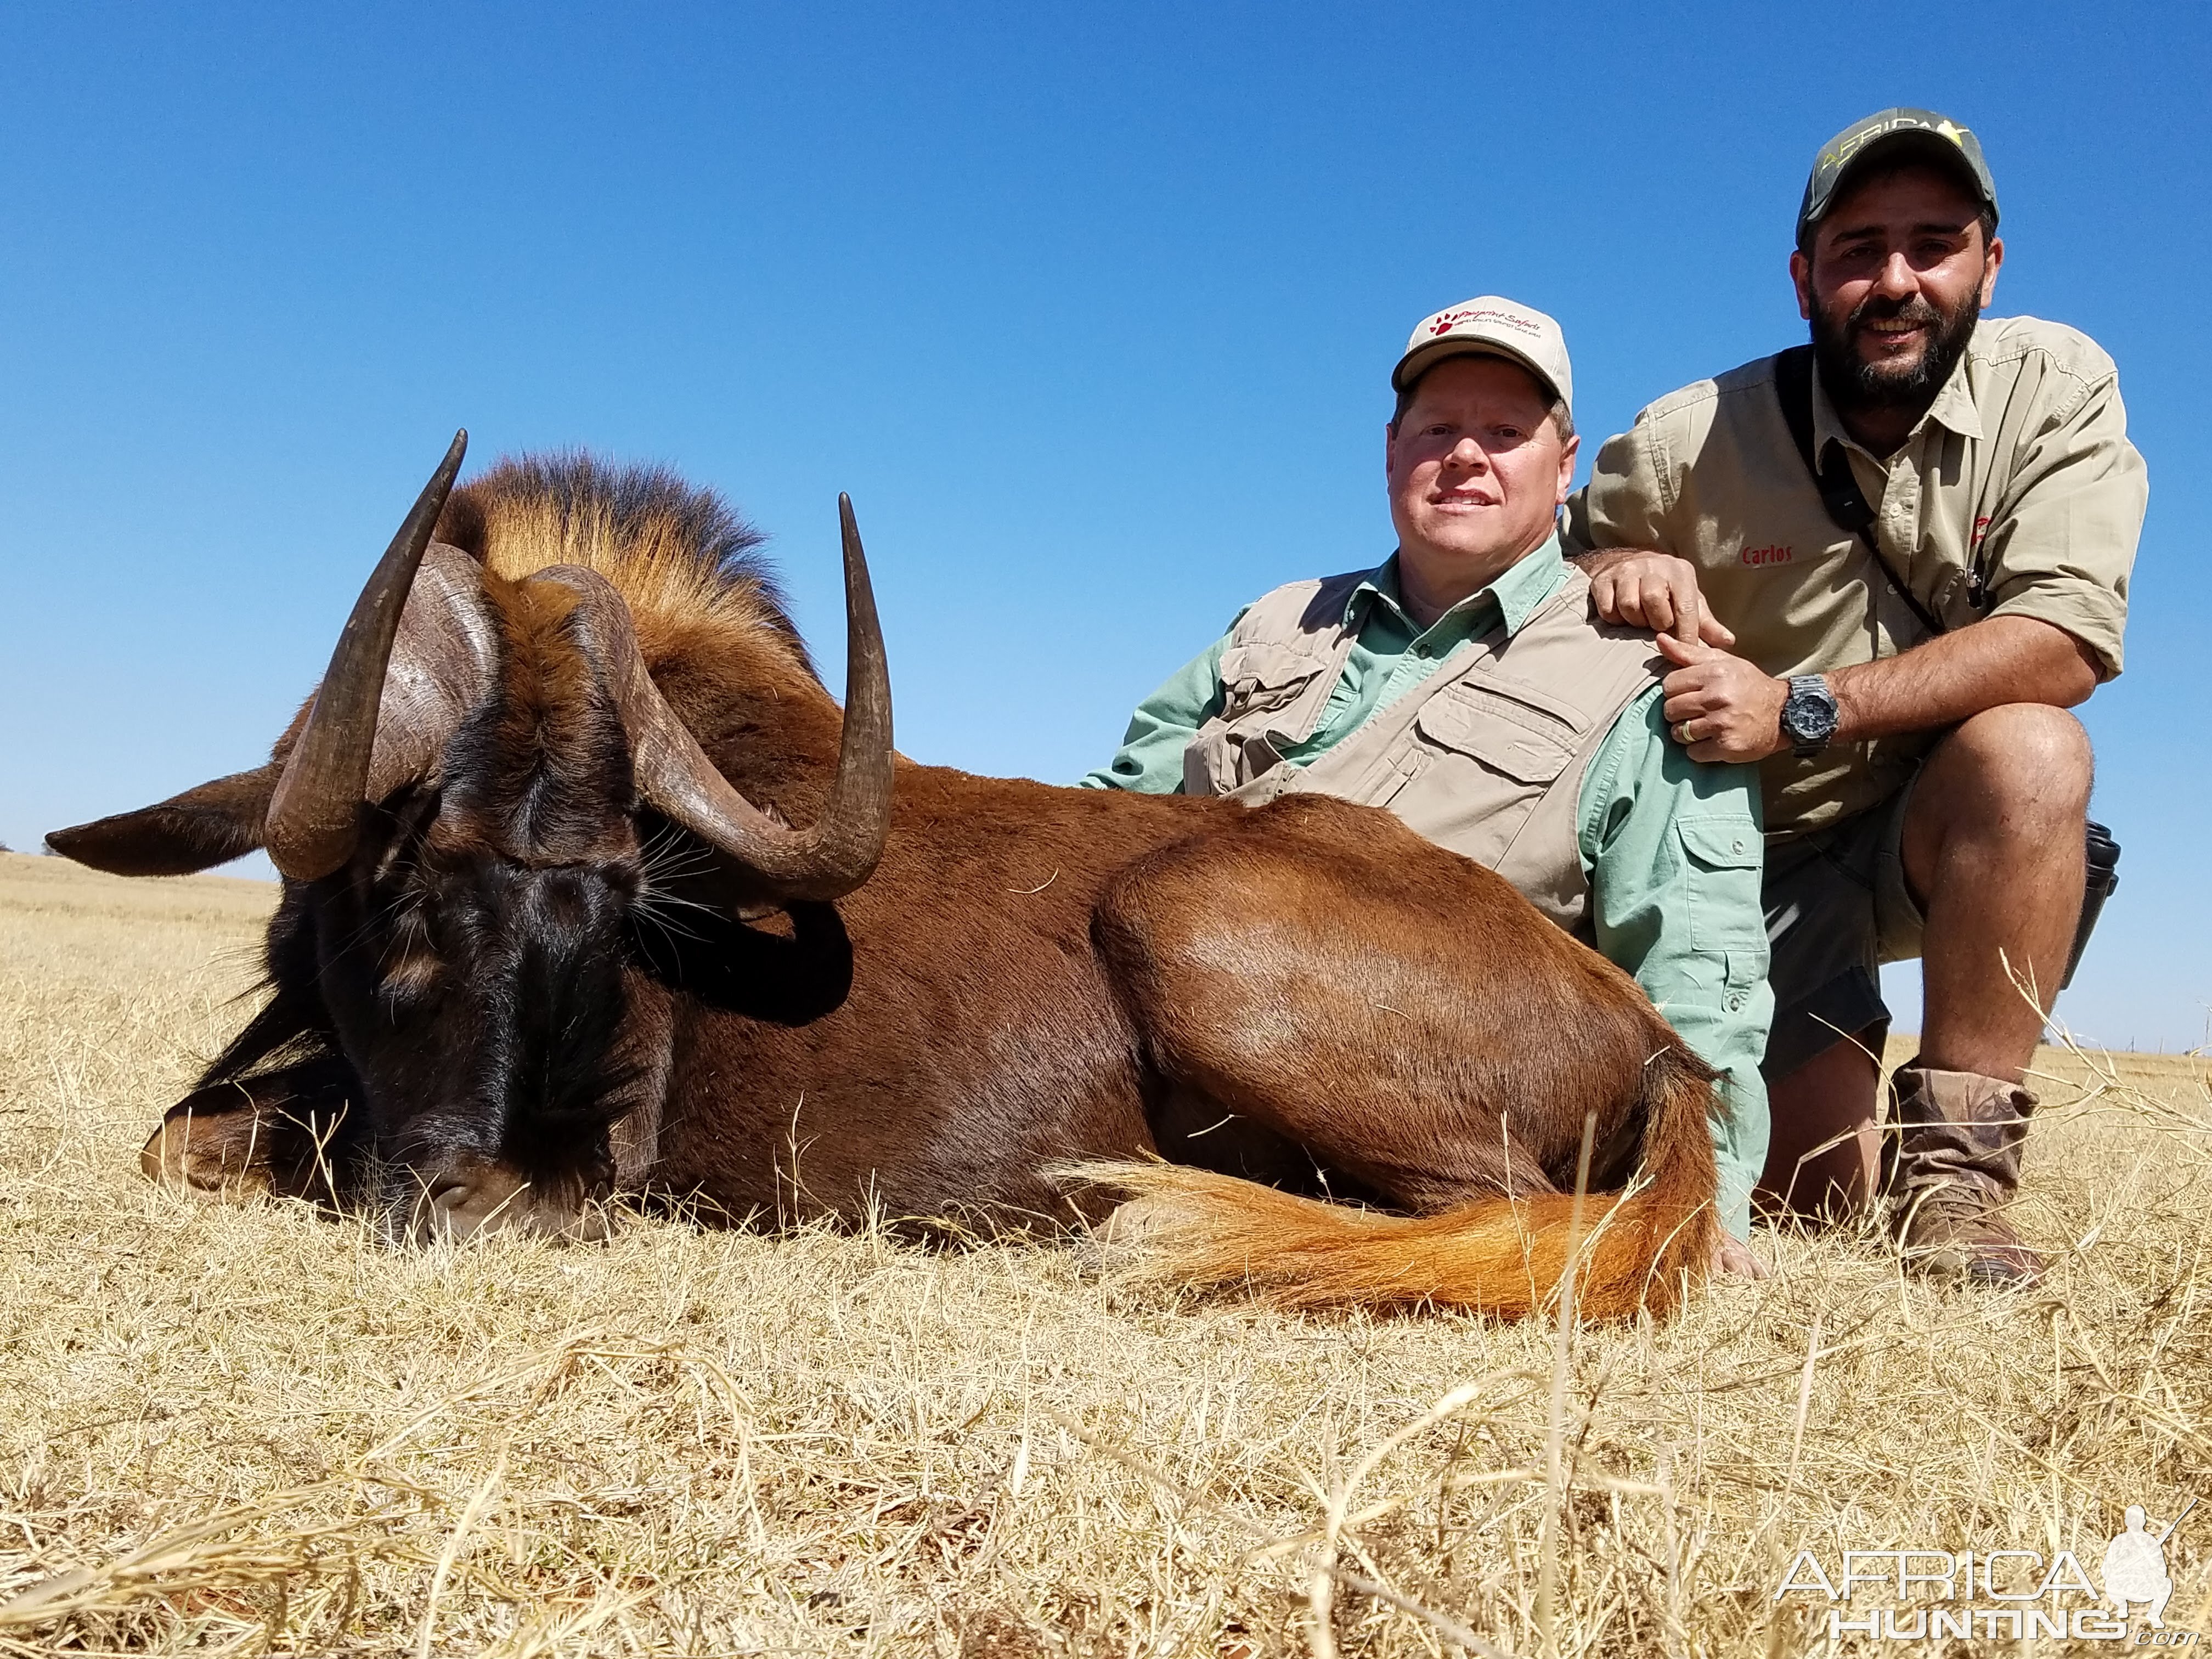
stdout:
<svg viewBox="0 0 2212 1659">
<path fill-rule="evenodd" d="M 1876 1192 L 1911 1265 L 2033 1283 L 2004 1217 L 2022 1086 L 2081 916 L 2090 745 L 2119 672 L 2143 460 L 2084 334 L 1984 319 L 2004 263 L 1973 133 L 1889 108 L 1812 166 L 1812 347 L 1644 409 L 1568 509 L 1599 615 L 1668 628 L 1666 719 L 1761 763 L 1776 1015 L 1761 1201 Z M 1880 962 L 1920 1055 L 1878 1130 Z"/>
</svg>

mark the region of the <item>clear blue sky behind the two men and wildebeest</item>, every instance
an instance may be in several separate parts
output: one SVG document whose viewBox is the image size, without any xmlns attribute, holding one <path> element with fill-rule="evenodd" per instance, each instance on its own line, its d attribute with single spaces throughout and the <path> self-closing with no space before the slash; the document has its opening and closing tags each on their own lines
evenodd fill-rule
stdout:
<svg viewBox="0 0 2212 1659">
<path fill-rule="evenodd" d="M 259 759 L 456 425 L 723 489 L 832 672 L 849 489 L 900 745 L 1073 779 L 1389 551 L 1418 316 L 1553 312 L 1601 438 L 1801 338 L 1812 150 L 1905 102 L 1982 133 L 1995 310 L 2121 365 L 2126 865 L 2062 1015 L 2199 1044 L 2208 75 L 2181 4 L 9 7 L 0 838 Z"/>
</svg>

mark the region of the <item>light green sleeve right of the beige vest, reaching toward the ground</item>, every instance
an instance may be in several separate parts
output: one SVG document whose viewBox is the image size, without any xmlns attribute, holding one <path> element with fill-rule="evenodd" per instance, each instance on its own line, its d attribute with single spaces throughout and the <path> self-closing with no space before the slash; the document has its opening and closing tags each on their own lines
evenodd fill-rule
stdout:
<svg viewBox="0 0 2212 1659">
<path fill-rule="evenodd" d="M 1759 772 L 1683 754 L 1652 686 L 1590 757 L 1579 807 L 1599 953 L 1635 975 L 1699 1060 L 1723 1073 L 1712 1121 L 1719 1210 L 1747 1239 L 1752 1186 L 1767 1159 L 1759 1062 L 1774 1020 L 1759 905 Z"/>
</svg>

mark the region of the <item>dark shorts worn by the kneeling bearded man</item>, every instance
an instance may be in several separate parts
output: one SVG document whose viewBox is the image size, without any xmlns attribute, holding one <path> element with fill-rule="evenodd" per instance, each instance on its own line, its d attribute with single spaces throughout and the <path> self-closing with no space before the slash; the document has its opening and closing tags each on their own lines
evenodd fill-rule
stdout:
<svg viewBox="0 0 2212 1659">
<path fill-rule="evenodd" d="M 1765 914 L 1774 1029 L 1759 1066 L 1787 1077 L 1847 1035 L 1889 1033 L 1882 962 L 1920 956 L 1920 905 L 1905 885 L 1907 783 L 1878 807 L 1767 843 Z"/>
</svg>

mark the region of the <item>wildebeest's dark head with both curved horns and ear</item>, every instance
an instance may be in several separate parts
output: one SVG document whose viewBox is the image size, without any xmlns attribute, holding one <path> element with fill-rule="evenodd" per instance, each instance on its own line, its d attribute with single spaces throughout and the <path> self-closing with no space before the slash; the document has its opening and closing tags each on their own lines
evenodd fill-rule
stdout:
<svg viewBox="0 0 2212 1659">
<path fill-rule="evenodd" d="M 482 546 L 434 540 L 462 447 L 456 436 L 268 765 L 49 843 L 139 876 L 265 847 L 285 876 L 274 998 L 210 1077 L 343 1062 L 336 1183 L 394 1232 L 584 1232 L 615 1175 L 613 1126 L 648 1104 L 666 1051 L 668 1002 L 639 967 L 653 854 L 675 843 L 677 858 L 712 860 L 708 889 L 741 914 L 858 887 L 889 823 L 889 679 L 841 498 L 843 737 L 818 821 L 787 827 L 723 779 L 655 686 L 624 593 L 593 568 L 606 560 L 513 580 Z M 493 480 L 493 504 L 500 484 L 538 491 L 564 538 L 613 542 L 617 564 L 626 535 L 688 518 L 672 557 L 701 593 L 763 586 L 741 564 L 757 538 L 666 476 L 568 460 Z M 453 500 L 451 535 L 471 540 L 482 498 Z M 821 697 L 772 599 L 759 626 L 790 637 L 783 659 Z"/>
</svg>

